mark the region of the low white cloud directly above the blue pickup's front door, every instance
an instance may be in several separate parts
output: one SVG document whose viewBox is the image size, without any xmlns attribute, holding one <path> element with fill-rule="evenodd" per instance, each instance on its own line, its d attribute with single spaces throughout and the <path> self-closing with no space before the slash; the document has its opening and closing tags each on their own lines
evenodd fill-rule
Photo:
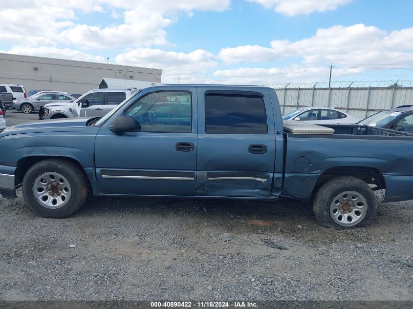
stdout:
<svg viewBox="0 0 413 309">
<path fill-rule="evenodd" d="M 217 67 L 214 55 L 197 49 L 190 53 L 179 53 L 151 48 L 136 48 L 115 58 L 116 63 L 125 65 L 162 68 L 162 80 L 177 82 L 178 78 L 193 80 Z"/>
</svg>

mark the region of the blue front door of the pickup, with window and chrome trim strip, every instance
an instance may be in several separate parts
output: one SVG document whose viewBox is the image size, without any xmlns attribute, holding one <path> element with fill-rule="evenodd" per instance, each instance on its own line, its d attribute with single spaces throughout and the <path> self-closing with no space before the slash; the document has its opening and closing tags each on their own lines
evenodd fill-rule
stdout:
<svg viewBox="0 0 413 309">
<path fill-rule="evenodd" d="M 195 195 L 196 105 L 196 87 L 144 90 L 123 113 L 136 120 L 135 131 L 111 132 L 112 119 L 103 124 L 95 142 L 99 193 Z"/>
</svg>

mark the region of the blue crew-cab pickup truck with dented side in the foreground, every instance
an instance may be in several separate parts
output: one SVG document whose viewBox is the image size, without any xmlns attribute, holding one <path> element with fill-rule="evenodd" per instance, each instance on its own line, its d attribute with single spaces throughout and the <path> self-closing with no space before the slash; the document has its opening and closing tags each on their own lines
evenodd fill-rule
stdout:
<svg viewBox="0 0 413 309">
<path fill-rule="evenodd" d="M 413 135 L 284 122 L 259 86 L 145 88 L 104 117 L 56 119 L 0 134 L 0 193 L 44 217 L 96 196 L 312 201 L 324 227 L 369 224 L 377 203 L 413 199 Z M 297 126 L 298 125 L 298 126 Z"/>
</svg>

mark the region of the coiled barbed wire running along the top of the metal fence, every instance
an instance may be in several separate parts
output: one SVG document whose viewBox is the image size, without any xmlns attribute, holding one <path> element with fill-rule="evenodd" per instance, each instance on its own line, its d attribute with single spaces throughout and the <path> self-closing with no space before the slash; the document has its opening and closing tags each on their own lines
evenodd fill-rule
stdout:
<svg viewBox="0 0 413 309">
<path fill-rule="evenodd" d="M 263 86 L 274 89 L 284 88 L 328 88 L 328 82 L 291 82 L 291 83 L 273 83 L 263 84 Z M 349 81 L 349 82 L 331 82 L 331 88 L 368 88 L 368 87 L 413 87 L 412 80 L 397 81 Z"/>
</svg>

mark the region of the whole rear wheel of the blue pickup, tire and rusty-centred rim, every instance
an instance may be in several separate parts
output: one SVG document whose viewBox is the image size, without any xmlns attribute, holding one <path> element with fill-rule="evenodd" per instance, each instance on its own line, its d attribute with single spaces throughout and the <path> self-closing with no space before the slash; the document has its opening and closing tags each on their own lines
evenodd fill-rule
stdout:
<svg viewBox="0 0 413 309">
<path fill-rule="evenodd" d="M 373 190 L 359 178 L 332 179 L 318 190 L 313 205 L 317 221 L 324 227 L 345 229 L 370 224 L 377 210 Z"/>
</svg>

